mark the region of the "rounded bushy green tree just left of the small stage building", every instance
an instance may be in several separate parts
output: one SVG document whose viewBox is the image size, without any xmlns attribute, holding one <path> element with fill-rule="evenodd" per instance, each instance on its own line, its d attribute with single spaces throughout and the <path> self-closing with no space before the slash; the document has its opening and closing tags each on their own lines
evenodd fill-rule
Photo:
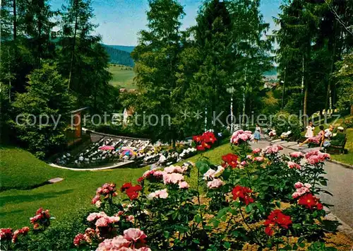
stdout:
<svg viewBox="0 0 353 251">
<path fill-rule="evenodd" d="M 16 95 L 15 116 L 11 123 L 18 139 L 35 156 L 44 158 L 59 151 L 66 142 L 65 130 L 70 121 L 73 97 L 66 93 L 66 81 L 55 64 L 43 64 L 28 79 L 28 92 Z"/>
</svg>

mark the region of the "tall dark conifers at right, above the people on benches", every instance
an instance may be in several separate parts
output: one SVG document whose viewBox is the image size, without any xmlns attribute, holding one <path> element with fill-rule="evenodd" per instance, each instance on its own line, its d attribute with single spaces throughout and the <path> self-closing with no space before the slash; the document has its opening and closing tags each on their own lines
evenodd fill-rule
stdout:
<svg viewBox="0 0 353 251">
<path fill-rule="evenodd" d="M 352 45 L 352 32 L 342 27 L 352 25 L 352 8 L 350 1 L 337 0 L 295 0 L 280 6 L 282 13 L 274 18 L 280 29 L 274 38 L 280 45 L 276 59 L 285 82 L 285 110 L 303 109 L 311 115 L 335 107 L 340 83 L 332 74 L 340 67 L 342 52 Z M 343 108 L 340 103 L 337 107 Z"/>
</svg>

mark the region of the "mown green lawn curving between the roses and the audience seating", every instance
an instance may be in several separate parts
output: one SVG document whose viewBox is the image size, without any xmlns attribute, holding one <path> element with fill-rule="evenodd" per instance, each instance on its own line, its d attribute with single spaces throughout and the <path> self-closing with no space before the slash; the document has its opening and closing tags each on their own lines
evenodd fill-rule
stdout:
<svg viewBox="0 0 353 251">
<path fill-rule="evenodd" d="M 214 164 L 221 163 L 221 156 L 229 153 L 229 144 L 218 146 L 205 153 Z M 148 168 L 113 169 L 102 171 L 72 171 L 52 168 L 37 160 L 32 154 L 18 148 L 1 148 L 1 186 L 14 187 L 0 192 L 0 227 L 20 228 L 28 226 L 29 218 L 39 207 L 49 209 L 56 222 L 70 218 L 80 209 L 87 209 L 95 189 L 105 182 L 115 182 L 120 187 L 124 182 L 135 182 Z M 189 160 L 195 162 L 198 156 Z M 186 160 L 184 160 L 186 161 Z M 184 162 L 183 161 L 183 162 Z M 196 170 L 193 170 L 196 172 Z M 64 181 L 21 190 L 23 185 L 35 186 L 53 177 Z M 188 180 L 191 185 L 195 180 Z M 53 222 L 55 224 L 55 221 Z"/>
</svg>

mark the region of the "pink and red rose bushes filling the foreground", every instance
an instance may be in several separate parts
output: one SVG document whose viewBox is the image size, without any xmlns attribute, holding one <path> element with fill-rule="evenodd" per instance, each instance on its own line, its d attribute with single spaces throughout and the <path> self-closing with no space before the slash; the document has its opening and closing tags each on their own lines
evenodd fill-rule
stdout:
<svg viewBox="0 0 353 251">
<path fill-rule="evenodd" d="M 201 155 L 196 164 L 148 170 L 119 191 L 114 184 L 102 185 L 92 199 L 97 209 L 85 218 L 87 229 L 76 235 L 73 247 L 335 250 L 325 243 L 332 241 L 337 222 L 325 218 L 323 206 L 328 205 L 318 199 L 318 194 L 329 193 L 323 189 L 323 175 L 330 156 L 318 151 L 280 156 L 277 145 L 251 150 L 246 134 L 232 136 L 233 153 L 222 157 L 222 165 Z M 200 151 L 216 140 L 209 133 L 194 139 Z M 186 180 L 195 173 L 192 169 L 198 179 L 191 186 Z M 115 199 L 118 193 L 126 194 L 122 203 Z M 42 214 L 33 220 L 38 230 L 49 226 L 48 212 Z M 2 249 L 11 245 L 16 244 Z"/>
</svg>

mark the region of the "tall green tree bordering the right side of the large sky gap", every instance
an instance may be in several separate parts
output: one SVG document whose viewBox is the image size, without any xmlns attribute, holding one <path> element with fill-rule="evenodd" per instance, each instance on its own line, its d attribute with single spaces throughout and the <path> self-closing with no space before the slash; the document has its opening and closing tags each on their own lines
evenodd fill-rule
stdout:
<svg viewBox="0 0 353 251">
<path fill-rule="evenodd" d="M 136 61 L 136 83 L 142 89 L 138 95 L 131 95 L 126 107 L 133 106 L 140 115 L 169 115 L 174 118 L 181 107 L 177 93 L 177 64 L 180 50 L 180 18 L 184 15 L 182 6 L 174 0 L 149 1 L 147 13 L 149 30 L 140 32 L 138 46 L 132 56 Z M 140 116 L 139 122 L 143 119 Z M 147 125 L 154 139 L 171 141 L 179 139 L 181 132 L 177 123 L 158 122 Z M 140 123 L 141 124 L 141 123 Z"/>
</svg>

